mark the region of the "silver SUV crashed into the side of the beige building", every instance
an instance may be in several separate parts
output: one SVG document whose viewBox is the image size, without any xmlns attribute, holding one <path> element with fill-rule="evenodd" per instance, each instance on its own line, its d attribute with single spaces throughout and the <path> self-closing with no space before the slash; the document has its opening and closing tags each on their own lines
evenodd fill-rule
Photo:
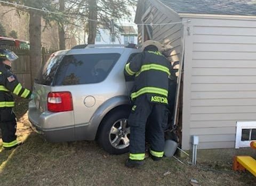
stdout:
<svg viewBox="0 0 256 186">
<path fill-rule="evenodd" d="M 34 82 L 32 128 L 46 140 L 98 140 L 110 154 L 129 150 L 126 119 L 132 79 L 125 79 L 137 48 L 86 46 L 55 52 Z"/>
</svg>

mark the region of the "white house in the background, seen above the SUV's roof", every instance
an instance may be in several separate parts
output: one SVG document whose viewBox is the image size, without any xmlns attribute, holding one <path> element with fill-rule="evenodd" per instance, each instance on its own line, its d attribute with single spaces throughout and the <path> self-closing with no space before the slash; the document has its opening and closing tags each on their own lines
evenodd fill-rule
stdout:
<svg viewBox="0 0 256 186">
<path fill-rule="evenodd" d="M 95 44 L 137 44 L 138 32 L 133 26 L 121 26 L 115 34 L 109 29 L 100 28 L 96 33 Z"/>
</svg>

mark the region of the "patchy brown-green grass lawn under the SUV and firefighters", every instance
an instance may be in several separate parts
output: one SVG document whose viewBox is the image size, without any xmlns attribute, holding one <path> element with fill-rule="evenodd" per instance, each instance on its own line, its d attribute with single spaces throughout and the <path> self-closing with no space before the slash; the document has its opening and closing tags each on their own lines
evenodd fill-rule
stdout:
<svg viewBox="0 0 256 186">
<path fill-rule="evenodd" d="M 25 144 L 3 150 L 0 140 L 0 185 L 256 185 L 248 172 L 233 172 L 232 159 L 188 165 L 189 159 L 150 158 L 138 169 L 124 166 L 128 154 L 109 155 L 95 141 L 50 143 L 29 128 L 27 100 L 18 99 L 17 135 Z"/>
</svg>

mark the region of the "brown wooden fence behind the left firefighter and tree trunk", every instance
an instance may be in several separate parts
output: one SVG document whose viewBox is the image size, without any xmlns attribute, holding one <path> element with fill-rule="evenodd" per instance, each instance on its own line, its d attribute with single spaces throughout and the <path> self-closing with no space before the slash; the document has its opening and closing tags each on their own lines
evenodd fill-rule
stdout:
<svg viewBox="0 0 256 186">
<path fill-rule="evenodd" d="M 7 49 L 13 51 L 19 56 L 18 60 L 12 63 L 12 72 L 17 75 L 19 82 L 22 86 L 30 89 L 34 82 L 30 80 L 30 61 L 29 61 L 29 49 L 6 47 Z M 42 61 L 41 65 L 45 64 L 50 55 L 56 50 L 47 50 L 42 47 Z M 38 66 L 38 69 L 41 66 Z"/>
</svg>

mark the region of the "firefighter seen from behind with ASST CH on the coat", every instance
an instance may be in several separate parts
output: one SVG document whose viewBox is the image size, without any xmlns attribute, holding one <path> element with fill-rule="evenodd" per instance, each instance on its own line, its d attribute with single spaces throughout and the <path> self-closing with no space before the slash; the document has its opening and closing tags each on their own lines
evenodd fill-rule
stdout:
<svg viewBox="0 0 256 186">
<path fill-rule="evenodd" d="M 138 167 L 145 158 L 145 130 L 147 125 L 149 155 L 160 160 L 164 155 L 164 128 L 168 104 L 168 82 L 171 64 L 160 52 L 162 45 L 157 41 L 145 41 L 143 52 L 135 55 L 125 65 L 125 76 L 133 76 L 134 86 L 131 99 L 134 103 L 128 117 L 130 126 L 130 155 L 127 167 Z"/>
</svg>

